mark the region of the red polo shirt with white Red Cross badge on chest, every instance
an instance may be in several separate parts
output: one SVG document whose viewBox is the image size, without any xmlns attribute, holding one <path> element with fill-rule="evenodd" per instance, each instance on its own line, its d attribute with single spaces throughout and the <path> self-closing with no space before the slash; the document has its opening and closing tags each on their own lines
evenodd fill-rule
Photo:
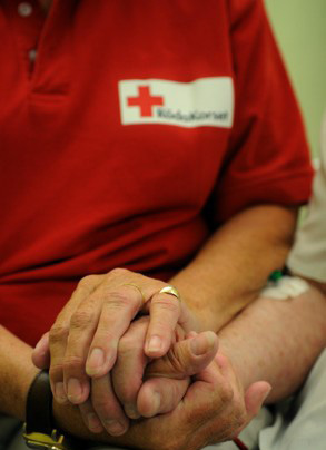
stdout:
<svg viewBox="0 0 326 450">
<path fill-rule="evenodd" d="M 0 0 L 0 319 L 30 343 L 86 274 L 168 278 L 240 209 L 309 196 L 260 0 Z"/>
</svg>

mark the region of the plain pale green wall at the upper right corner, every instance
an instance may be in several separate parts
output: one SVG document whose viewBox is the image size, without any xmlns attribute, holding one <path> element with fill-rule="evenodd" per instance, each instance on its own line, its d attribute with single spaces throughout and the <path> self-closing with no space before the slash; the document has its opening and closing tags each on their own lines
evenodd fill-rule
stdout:
<svg viewBox="0 0 326 450">
<path fill-rule="evenodd" d="M 304 114 L 313 155 L 326 109 L 326 0 L 265 0 Z"/>
</svg>

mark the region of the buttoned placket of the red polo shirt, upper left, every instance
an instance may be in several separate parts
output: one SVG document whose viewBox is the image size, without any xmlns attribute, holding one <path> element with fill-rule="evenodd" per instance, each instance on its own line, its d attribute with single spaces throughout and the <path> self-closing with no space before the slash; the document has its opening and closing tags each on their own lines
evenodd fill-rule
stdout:
<svg viewBox="0 0 326 450">
<path fill-rule="evenodd" d="M 30 96 L 65 96 L 70 85 L 70 52 L 65 45 L 69 43 L 71 0 L 53 0 L 48 17 L 37 0 L 4 3 Z"/>
</svg>

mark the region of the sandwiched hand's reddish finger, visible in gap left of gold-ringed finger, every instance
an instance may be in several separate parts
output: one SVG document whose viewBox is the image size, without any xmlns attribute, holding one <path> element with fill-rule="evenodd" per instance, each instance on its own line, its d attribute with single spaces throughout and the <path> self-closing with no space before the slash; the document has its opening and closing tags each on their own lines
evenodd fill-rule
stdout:
<svg viewBox="0 0 326 450">
<path fill-rule="evenodd" d="M 141 317 L 131 323 L 119 341 L 118 358 L 111 371 L 117 398 L 130 419 L 140 417 L 137 410 L 137 394 L 148 359 L 144 353 L 144 342 L 149 319 Z"/>
</svg>

